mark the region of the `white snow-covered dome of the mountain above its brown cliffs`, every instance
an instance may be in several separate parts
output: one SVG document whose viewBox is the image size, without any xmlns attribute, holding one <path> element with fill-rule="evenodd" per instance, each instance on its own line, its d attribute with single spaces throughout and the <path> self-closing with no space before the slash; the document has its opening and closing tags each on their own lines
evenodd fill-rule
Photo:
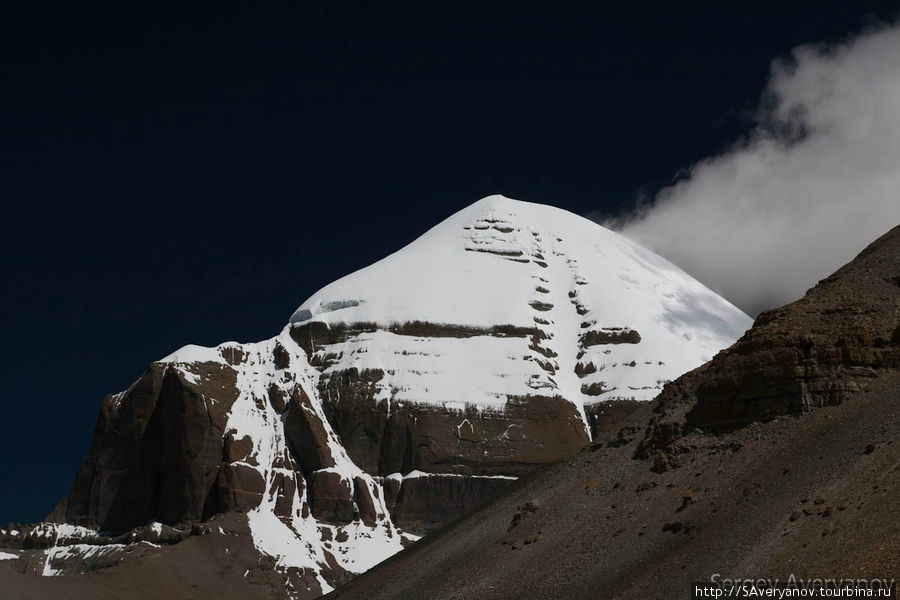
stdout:
<svg viewBox="0 0 900 600">
<path fill-rule="evenodd" d="M 751 321 L 619 234 L 495 195 L 313 294 L 291 322 L 361 329 L 318 351 L 326 373 L 387 373 L 380 399 L 501 407 L 538 389 L 579 406 L 649 400 Z"/>
</svg>

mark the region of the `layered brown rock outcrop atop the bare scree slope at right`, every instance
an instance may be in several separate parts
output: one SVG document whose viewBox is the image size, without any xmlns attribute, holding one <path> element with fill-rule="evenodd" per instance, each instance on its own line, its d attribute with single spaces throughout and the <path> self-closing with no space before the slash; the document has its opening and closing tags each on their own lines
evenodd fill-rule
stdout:
<svg viewBox="0 0 900 600">
<path fill-rule="evenodd" d="M 732 347 L 666 386 L 639 456 L 678 464 L 677 440 L 835 406 L 900 367 L 900 228 Z"/>
</svg>

